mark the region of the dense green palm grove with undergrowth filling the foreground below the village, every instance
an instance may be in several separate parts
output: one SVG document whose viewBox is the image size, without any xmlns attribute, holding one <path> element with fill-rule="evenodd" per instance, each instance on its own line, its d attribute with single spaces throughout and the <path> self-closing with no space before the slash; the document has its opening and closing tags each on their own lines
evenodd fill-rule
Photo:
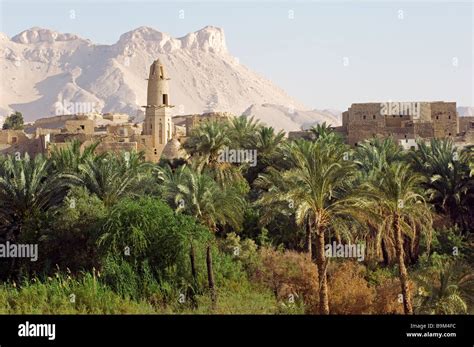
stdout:
<svg viewBox="0 0 474 347">
<path fill-rule="evenodd" d="M 0 260 L 0 312 L 473 313 L 473 148 L 311 131 L 204 122 L 158 165 L 77 142 L 0 157 L 0 242 L 39 248 Z"/>
</svg>

